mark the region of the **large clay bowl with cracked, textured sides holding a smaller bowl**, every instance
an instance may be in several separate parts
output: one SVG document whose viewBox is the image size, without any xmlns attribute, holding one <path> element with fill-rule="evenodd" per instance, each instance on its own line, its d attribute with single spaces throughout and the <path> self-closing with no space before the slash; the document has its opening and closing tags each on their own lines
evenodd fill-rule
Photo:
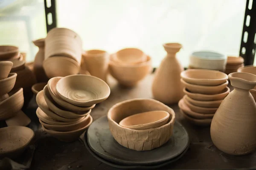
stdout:
<svg viewBox="0 0 256 170">
<path fill-rule="evenodd" d="M 148 111 L 167 111 L 169 120 L 163 126 L 146 130 L 133 130 L 119 125 L 128 116 Z M 152 150 L 162 146 L 172 136 L 174 123 L 175 112 L 172 108 L 154 99 L 126 100 L 113 105 L 108 111 L 108 124 L 114 139 L 132 150 Z"/>
</svg>

